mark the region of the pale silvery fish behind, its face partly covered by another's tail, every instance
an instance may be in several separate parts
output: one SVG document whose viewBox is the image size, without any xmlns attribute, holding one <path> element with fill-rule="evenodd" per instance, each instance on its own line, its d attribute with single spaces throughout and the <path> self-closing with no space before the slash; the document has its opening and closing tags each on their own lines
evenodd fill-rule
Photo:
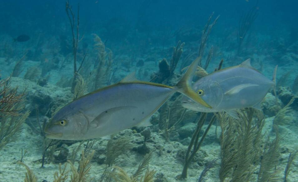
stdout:
<svg viewBox="0 0 298 182">
<path fill-rule="evenodd" d="M 261 110 L 261 101 L 271 88 L 275 89 L 277 66 L 273 80 L 270 80 L 254 69 L 250 62 L 247 59 L 240 65 L 220 69 L 193 84 L 193 90 L 212 108 L 204 107 L 186 97 L 181 100 L 182 106 L 205 113 L 225 111 L 234 118 L 238 118 L 236 109 Z"/>
</svg>

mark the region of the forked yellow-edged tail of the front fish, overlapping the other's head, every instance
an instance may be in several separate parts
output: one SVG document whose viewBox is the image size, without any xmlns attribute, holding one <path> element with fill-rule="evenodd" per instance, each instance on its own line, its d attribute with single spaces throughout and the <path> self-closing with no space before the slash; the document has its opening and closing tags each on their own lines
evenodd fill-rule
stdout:
<svg viewBox="0 0 298 182">
<path fill-rule="evenodd" d="M 182 76 L 178 84 L 176 85 L 177 91 L 182 93 L 183 95 L 191 98 L 193 101 L 207 107 L 212 108 L 208 103 L 206 103 L 196 91 L 194 91 L 191 87 L 193 75 L 197 69 L 199 62 L 201 61 L 202 56 L 197 57 L 196 60 L 189 66 L 185 74 Z"/>
</svg>

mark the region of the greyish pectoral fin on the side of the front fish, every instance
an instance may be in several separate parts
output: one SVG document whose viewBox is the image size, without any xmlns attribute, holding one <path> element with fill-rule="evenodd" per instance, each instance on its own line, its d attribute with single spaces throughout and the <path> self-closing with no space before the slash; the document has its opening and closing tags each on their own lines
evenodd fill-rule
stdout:
<svg viewBox="0 0 298 182">
<path fill-rule="evenodd" d="M 100 113 L 97 117 L 94 118 L 94 120 L 92 120 L 90 122 L 90 125 L 92 127 L 97 128 L 101 122 L 106 122 L 109 121 L 110 118 L 114 115 L 114 114 L 120 114 L 120 112 L 123 112 L 125 110 L 129 110 L 132 108 L 136 108 L 134 106 L 124 106 L 124 107 L 116 107 L 116 108 L 110 108 L 102 113 Z"/>
</svg>

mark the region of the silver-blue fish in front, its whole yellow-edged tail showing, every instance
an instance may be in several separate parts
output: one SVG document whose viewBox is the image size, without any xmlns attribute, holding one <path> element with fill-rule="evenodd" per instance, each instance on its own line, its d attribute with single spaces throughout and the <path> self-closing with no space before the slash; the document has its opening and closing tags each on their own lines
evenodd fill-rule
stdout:
<svg viewBox="0 0 298 182">
<path fill-rule="evenodd" d="M 168 86 L 134 79 L 128 75 L 117 84 L 86 94 L 61 108 L 46 124 L 47 138 L 60 140 L 109 139 L 130 127 L 151 126 L 151 116 L 175 92 L 210 107 L 191 89 L 201 58 L 193 61 L 177 85 Z"/>
</svg>

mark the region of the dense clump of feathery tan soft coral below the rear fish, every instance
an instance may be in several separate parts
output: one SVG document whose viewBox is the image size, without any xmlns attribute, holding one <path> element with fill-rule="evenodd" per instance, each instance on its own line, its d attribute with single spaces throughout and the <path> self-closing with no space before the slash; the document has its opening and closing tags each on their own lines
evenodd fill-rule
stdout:
<svg viewBox="0 0 298 182">
<path fill-rule="evenodd" d="M 240 118 L 237 120 L 227 114 L 217 114 L 222 128 L 220 181 L 280 181 L 280 170 L 276 168 L 279 159 L 278 132 L 272 142 L 268 137 L 264 145 L 263 113 L 249 108 L 238 114 Z M 261 165 L 255 179 L 253 173 L 258 164 Z"/>
</svg>

